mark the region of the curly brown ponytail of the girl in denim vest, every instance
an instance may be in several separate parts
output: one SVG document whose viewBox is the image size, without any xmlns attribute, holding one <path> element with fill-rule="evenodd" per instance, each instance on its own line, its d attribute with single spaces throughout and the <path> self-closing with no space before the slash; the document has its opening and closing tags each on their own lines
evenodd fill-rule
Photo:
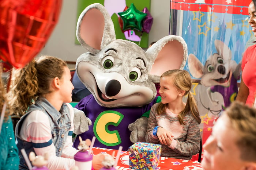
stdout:
<svg viewBox="0 0 256 170">
<path fill-rule="evenodd" d="M 38 97 L 36 62 L 33 59 L 23 69 L 12 68 L 8 98 L 10 108 L 15 115 L 24 115 Z"/>
</svg>

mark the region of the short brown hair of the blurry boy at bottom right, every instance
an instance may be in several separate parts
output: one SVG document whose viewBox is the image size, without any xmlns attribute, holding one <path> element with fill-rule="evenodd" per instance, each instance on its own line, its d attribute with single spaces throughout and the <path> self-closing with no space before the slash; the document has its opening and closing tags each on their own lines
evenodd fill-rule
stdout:
<svg viewBox="0 0 256 170">
<path fill-rule="evenodd" d="M 256 162 L 256 109 L 234 101 L 223 114 L 228 116 L 231 128 L 239 136 L 236 143 L 241 151 L 240 158 Z"/>
</svg>

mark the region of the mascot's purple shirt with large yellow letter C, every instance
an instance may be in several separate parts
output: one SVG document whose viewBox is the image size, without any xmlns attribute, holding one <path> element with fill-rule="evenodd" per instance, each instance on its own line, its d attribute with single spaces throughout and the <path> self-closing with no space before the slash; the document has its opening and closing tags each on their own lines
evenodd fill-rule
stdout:
<svg viewBox="0 0 256 170">
<path fill-rule="evenodd" d="M 83 140 L 91 140 L 95 136 L 94 147 L 118 149 L 119 146 L 123 146 L 123 150 L 128 150 L 128 147 L 133 144 L 129 139 L 131 131 L 128 130 L 128 125 L 149 111 L 156 101 L 157 97 L 150 104 L 142 107 L 107 108 L 99 105 L 90 94 L 75 107 L 82 110 L 92 121 L 89 131 L 78 136 Z M 74 142 L 75 148 L 79 144 L 78 136 Z"/>
</svg>

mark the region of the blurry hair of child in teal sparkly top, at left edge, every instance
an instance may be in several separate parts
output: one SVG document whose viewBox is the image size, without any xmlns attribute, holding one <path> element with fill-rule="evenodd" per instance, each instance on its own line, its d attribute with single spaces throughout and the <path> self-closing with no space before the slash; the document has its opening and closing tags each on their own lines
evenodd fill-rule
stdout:
<svg viewBox="0 0 256 170">
<path fill-rule="evenodd" d="M 0 64 L 0 77 L 2 77 L 3 73 L 3 65 Z M 4 83 L 2 78 L 0 78 L 0 113 L 2 112 L 4 102 L 6 102 L 6 109 L 4 112 L 5 121 L 8 120 L 8 116 L 10 115 L 9 105 L 6 97 L 6 89 L 4 87 Z"/>
</svg>

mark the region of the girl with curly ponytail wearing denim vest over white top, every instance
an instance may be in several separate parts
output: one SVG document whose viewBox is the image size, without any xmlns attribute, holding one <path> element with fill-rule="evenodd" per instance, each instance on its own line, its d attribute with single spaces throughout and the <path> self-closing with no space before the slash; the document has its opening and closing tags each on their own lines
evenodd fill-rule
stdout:
<svg viewBox="0 0 256 170">
<path fill-rule="evenodd" d="M 27 155 L 48 153 L 50 170 L 75 165 L 72 147 L 74 110 L 71 74 L 63 60 L 42 56 L 33 59 L 23 69 L 12 70 L 8 97 L 14 113 L 23 115 L 16 125 L 15 135 L 19 150 L 19 169 L 28 169 L 20 150 Z M 29 108 L 29 109 L 28 109 Z"/>
</svg>

